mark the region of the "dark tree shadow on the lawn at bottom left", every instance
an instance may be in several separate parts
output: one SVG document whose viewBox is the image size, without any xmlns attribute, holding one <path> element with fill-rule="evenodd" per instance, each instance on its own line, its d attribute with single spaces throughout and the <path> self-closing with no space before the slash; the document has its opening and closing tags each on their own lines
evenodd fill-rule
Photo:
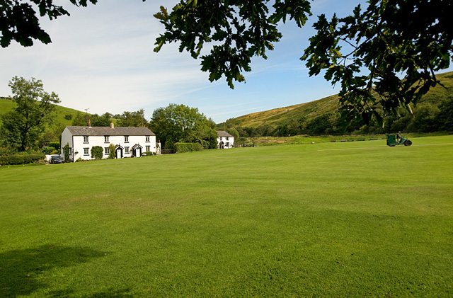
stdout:
<svg viewBox="0 0 453 298">
<path fill-rule="evenodd" d="M 69 267 L 101 258 L 104 253 L 91 248 L 43 245 L 0 253 L 0 297 L 18 297 L 49 287 L 40 278 L 53 268 Z M 70 278 L 70 277 L 69 277 Z M 69 297 L 71 290 L 50 292 L 53 297 Z M 55 296 L 57 295 L 57 296 Z M 99 296 L 101 295 L 101 296 Z M 125 291 L 93 294 L 89 297 L 127 297 Z"/>
</svg>

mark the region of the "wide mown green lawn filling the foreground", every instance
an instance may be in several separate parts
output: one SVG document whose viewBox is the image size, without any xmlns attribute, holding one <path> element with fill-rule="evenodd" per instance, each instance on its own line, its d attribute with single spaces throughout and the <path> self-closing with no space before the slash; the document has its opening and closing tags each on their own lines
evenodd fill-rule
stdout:
<svg viewBox="0 0 453 298">
<path fill-rule="evenodd" d="M 452 297 L 453 136 L 0 168 L 0 297 Z"/>
</svg>

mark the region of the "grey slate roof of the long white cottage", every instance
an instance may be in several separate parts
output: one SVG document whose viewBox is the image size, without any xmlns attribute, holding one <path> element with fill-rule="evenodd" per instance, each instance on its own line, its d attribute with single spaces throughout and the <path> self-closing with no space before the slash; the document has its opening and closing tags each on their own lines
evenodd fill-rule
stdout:
<svg viewBox="0 0 453 298">
<path fill-rule="evenodd" d="M 72 135 L 96 135 L 96 136 L 114 136 L 114 135 L 144 135 L 144 136 L 155 136 L 154 132 L 151 132 L 147 127 L 86 127 L 86 126 L 67 126 L 66 127 Z"/>
</svg>

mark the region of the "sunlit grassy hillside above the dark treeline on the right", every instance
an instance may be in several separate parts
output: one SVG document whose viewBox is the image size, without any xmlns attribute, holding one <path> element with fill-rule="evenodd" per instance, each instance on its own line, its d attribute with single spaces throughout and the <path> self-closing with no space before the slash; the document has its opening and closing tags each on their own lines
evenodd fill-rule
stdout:
<svg viewBox="0 0 453 298">
<path fill-rule="evenodd" d="M 423 96 L 421 101 L 438 102 L 453 96 L 453 72 L 439 74 L 437 77 L 442 81 L 442 84 L 446 88 L 442 86 L 432 88 L 425 96 Z M 241 127 L 258 127 L 260 125 L 277 127 L 277 125 L 289 122 L 289 120 L 297 120 L 302 115 L 311 119 L 316 118 L 323 113 L 334 112 L 338 110 L 338 108 L 338 96 L 333 95 L 319 99 L 318 101 L 243 115 L 238 118 L 230 119 L 228 122 L 233 123 L 234 126 Z"/>
</svg>

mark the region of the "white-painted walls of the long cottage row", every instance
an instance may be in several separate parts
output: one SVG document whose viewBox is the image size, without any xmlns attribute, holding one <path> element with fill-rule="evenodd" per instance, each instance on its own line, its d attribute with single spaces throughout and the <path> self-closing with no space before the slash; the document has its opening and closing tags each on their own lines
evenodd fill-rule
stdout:
<svg viewBox="0 0 453 298">
<path fill-rule="evenodd" d="M 64 133 L 64 132 L 63 132 Z M 156 152 L 156 136 L 149 136 L 149 142 L 146 142 L 147 136 L 128 136 L 128 142 L 125 142 L 125 136 L 108 136 L 108 142 L 105 142 L 105 136 L 88 136 L 88 142 L 84 142 L 84 136 L 74 136 L 71 139 L 74 139 L 74 144 L 69 147 L 73 148 L 74 156 L 71 154 L 71 159 L 76 161 L 77 159 L 93 159 L 91 158 L 91 148 L 95 146 L 99 146 L 103 148 L 103 159 L 108 158 L 109 154 L 105 154 L 105 148 L 108 148 L 110 144 L 114 144 L 115 146 L 120 145 L 123 148 L 129 147 L 129 153 L 126 153 L 124 150 L 122 153 L 123 157 L 131 157 L 132 156 L 132 147 L 135 144 L 139 144 L 142 146 L 142 153 L 147 151 L 147 147 L 149 146 L 149 151 Z M 62 135 L 62 146 L 63 145 L 63 135 Z M 66 144 L 66 143 L 64 143 Z M 88 148 L 88 154 L 84 154 L 84 149 Z M 115 152 L 114 152 L 115 154 Z"/>
</svg>

